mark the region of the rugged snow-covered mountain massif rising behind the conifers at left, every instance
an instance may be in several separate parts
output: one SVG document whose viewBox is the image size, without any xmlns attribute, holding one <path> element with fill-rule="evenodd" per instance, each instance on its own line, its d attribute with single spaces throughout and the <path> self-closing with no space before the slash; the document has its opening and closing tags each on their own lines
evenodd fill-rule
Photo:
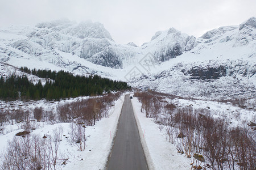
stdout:
<svg viewBox="0 0 256 170">
<path fill-rule="evenodd" d="M 69 20 L 57 20 L 39 23 L 35 27 L 10 27 L 1 31 L 1 39 L 1 49 L 5 52 L 2 61 L 21 56 L 17 54 L 21 52 L 30 58 L 67 66 L 63 65 L 57 52 L 59 50 L 97 65 L 122 68 L 122 60 L 132 57 L 128 50 L 130 46 L 115 43 L 102 24 L 90 21 L 76 24 Z"/>
</svg>

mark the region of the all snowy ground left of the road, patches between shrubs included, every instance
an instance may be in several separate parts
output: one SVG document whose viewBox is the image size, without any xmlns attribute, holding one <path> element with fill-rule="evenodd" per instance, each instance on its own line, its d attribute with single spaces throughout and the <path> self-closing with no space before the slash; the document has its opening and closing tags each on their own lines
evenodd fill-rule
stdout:
<svg viewBox="0 0 256 170">
<path fill-rule="evenodd" d="M 31 134 L 39 134 L 41 137 L 46 135 L 46 137 L 49 137 L 50 135 L 53 135 L 56 128 L 62 127 L 63 136 L 59 146 L 59 168 L 104 169 L 113 145 L 113 138 L 117 130 L 119 115 L 121 113 L 124 97 L 125 94 L 123 94 L 117 101 L 115 101 L 114 106 L 112 106 L 109 110 L 109 117 L 102 118 L 100 121 L 97 121 L 96 125 L 94 126 L 86 126 L 86 146 L 84 151 L 79 151 L 79 147 L 70 141 L 69 130 L 71 123 L 51 125 L 47 122 L 36 122 L 35 127 L 37 128 L 33 130 Z M 72 99 L 70 99 L 70 101 L 72 101 Z M 61 102 L 69 102 L 69 100 Z M 38 101 L 38 103 L 35 103 L 33 107 L 49 106 L 50 108 L 55 108 L 56 104 L 58 103 L 50 103 L 47 105 L 43 101 Z M 14 138 L 16 133 L 23 131 L 20 129 L 18 123 L 14 125 L 5 125 L 4 129 L 5 130 L 3 133 L 0 134 L 1 152 L 6 149 L 7 143 Z M 67 164 L 61 165 L 64 160 L 67 160 Z"/>
</svg>

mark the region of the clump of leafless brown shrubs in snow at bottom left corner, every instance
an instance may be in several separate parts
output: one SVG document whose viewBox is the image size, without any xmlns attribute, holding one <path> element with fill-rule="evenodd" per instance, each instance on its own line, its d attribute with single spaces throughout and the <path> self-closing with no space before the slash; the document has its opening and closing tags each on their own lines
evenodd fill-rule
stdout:
<svg viewBox="0 0 256 170">
<path fill-rule="evenodd" d="M 53 137 L 55 138 L 55 137 Z M 14 137 L 2 155 L 1 169 L 56 169 L 59 142 L 39 135 Z"/>
</svg>

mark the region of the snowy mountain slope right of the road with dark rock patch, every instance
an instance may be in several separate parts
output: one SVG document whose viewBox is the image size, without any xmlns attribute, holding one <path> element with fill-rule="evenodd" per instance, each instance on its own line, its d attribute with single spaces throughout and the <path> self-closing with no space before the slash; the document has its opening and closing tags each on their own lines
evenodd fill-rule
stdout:
<svg viewBox="0 0 256 170">
<path fill-rule="evenodd" d="M 179 96 L 255 99 L 256 19 L 220 27 L 196 39 L 189 52 L 154 66 L 134 86 Z"/>
</svg>

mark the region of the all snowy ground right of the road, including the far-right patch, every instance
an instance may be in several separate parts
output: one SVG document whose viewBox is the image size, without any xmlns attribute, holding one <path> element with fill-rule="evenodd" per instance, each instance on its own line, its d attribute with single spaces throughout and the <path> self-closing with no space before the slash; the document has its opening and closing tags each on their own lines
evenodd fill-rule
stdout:
<svg viewBox="0 0 256 170">
<path fill-rule="evenodd" d="M 133 95 L 132 95 L 133 96 Z M 229 127 L 246 127 L 248 122 L 255 122 L 254 109 L 246 109 L 233 106 L 231 103 L 218 103 L 207 100 L 162 99 L 176 107 L 206 109 L 213 118 L 221 118 Z M 131 100 L 134 108 L 141 142 L 150 169 L 190 169 L 193 158 L 187 158 L 185 154 L 179 154 L 175 144 L 169 142 L 166 126 L 156 124 L 154 118 L 147 118 L 142 112 L 142 104 L 138 98 Z M 254 101 L 255 102 L 255 101 Z M 161 113 L 166 114 L 166 113 Z M 203 114 L 203 112 L 202 112 Z"/>
</svg>

